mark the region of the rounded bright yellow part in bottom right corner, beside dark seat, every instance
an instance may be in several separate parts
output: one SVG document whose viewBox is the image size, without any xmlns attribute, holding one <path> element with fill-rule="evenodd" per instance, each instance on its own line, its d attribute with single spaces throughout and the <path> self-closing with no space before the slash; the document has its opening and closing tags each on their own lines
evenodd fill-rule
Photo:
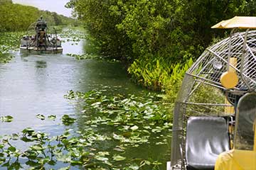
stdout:
<svg viewBox="0 0 256 170">
<path fill-rule="evenodd" d="M 256 152 L 232 149 L 218 156 L 215 170 L 255 170 Z"/>
</svg>

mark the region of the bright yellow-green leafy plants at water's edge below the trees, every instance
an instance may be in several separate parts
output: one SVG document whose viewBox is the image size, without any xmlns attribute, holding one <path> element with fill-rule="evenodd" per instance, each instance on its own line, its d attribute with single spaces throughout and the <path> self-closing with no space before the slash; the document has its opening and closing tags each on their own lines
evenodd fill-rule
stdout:
<svg viewBox="0 0 256 170">
<path fill-rule="evenodd" d="M 164 62 L 162 58 L 161 60 L 135 60 L 129 67 L 128 72 L 132 75 L 133 81 L 138 81 L 149 89 L 160 90 L 163 86 L 168 87 L 170 83 L 174 84 L 175 89 L 177 89 L 183 75 L 192 64 L 192 59 L 185 64 L 178 63 L 175 66 Z"/>
</svg>

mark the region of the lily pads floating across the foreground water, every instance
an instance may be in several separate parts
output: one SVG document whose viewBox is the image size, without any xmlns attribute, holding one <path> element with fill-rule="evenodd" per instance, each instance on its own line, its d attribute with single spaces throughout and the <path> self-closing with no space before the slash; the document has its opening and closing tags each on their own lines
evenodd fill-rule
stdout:
<svg viewBox="0 0 256 170">
<path fill-rule="evenodd" d="M 76 117 L 36 115 L 42 121 L 61 120 L 67 129 L 59 135 L 50 136 L 26 128 L 21 133 L 0 136 L 1 168 L 164 169 L 165 164 L 159 160 L 169 159 L 164 153 L 161 157 L 147 157 L 149 153 L 129 157 L 129 152 L 143 146 L 159 151 L 167 145 L 171 123 L 166 107 L 155 94 L 110 95 L 106 90 L 110 89 L 86 93 L 69 91 L 65 97 L 83 106 Z M 2 116 L 0 123 L 13 119 L 10 115 Z M 27 148 L 19 149 L 16 142 L 26 143 Z"/>
</svg>

